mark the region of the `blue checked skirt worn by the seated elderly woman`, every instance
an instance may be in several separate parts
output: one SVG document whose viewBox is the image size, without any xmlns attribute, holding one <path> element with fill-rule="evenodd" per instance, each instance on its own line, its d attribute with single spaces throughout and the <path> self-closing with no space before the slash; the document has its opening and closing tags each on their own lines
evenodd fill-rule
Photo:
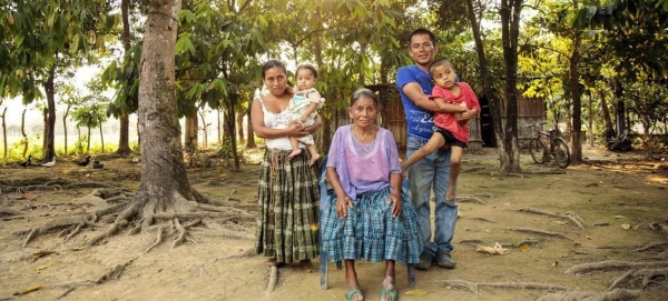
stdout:
<svg viewBox="0 0 668 301">
<path fill-rule="evenodd" d="M 390 188 L 357 195 L 354 208 L 347 208 L 343 220 L 336 214 L 336 194 L 327 191 L 327 200 L 321 203 L 323 214 L 323 249 L 333 262 L 364 259 L 370 262 L 395 260 L 401 264 L 418 263 L 422 252 L 422 239 L 418 214 L 409 191 L 402 189 L 401 217 L 392 217 L 387 203 Z"/>
</svg>

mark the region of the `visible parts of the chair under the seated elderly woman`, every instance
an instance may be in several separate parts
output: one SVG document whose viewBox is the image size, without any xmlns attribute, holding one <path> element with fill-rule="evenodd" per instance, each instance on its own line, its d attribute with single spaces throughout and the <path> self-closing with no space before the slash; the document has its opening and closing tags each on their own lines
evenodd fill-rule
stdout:
<svg viewBox="0 0 668 301">
<path fill-rule="evenodd" d="M 323 217 L 323 208 L 325 207 L 326 200 L 327 200 L 327 183 L 325 182 L 326 179 L 326 173 L 327 173 L 327 155 L 325 155 L 323 158 L 323 160 L 321 161 L 321 168 L 320 168 L 320 180 L 318 180 L 318 184 L 320 184 L 320 190 L 321 190 L 321 207 L 320 207 L 320 211 L 318 211 L 318 220 L 322 219 Z M 402 182 L 402 185 L 407 188 L 409 187 L 409 179 L 404 179 L 404 181 Z M 327 269 L 327 261 L 328 261 L 328 255 L 327 252 L 325 252 L 325 250 L 323 249 L 323 232 L 322 232 L 322 228 L 318 227 L 318 229 L 321 229 L 321 231 L 318 231 L 318 237 L 320 237 L 320 271 L 321 271 L 321 289 L 322 290 L 326 290 L 328 284 L 327 284 L 327 277 L 328 277 L 328 269 Z M 415 287 L 415 264 L 406 264 L 407 267 L 407 273 L 409 273 L 409 288 L 414 288 Z M 341 261 L 336 262 L 336 269 L 341 270 L 342 265 L 341 265 Z"/>
</svg>

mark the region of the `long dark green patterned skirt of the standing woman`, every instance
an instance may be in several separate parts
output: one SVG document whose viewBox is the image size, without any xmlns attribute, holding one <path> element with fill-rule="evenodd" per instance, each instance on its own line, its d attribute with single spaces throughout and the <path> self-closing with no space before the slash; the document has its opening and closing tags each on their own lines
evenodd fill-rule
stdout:
<svg viewBox="0 0 668 301">
<path fill-rule="evenodd" d="M 258 181 L 258 254 L 291 263 L 317 255 L 320 190 L 316 168 L 308 168 L 306 150 L 292 160 L 289 150 L 267 149 Z"/>
</svg>

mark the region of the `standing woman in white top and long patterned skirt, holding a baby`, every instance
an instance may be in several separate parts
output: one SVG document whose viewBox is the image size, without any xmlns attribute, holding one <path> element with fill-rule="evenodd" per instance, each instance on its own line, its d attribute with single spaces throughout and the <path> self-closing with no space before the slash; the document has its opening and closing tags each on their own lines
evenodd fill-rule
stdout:
<svg viewBox="0 0 668 301">
<path fill-rule="evenodd" d="M 289 121 L 287 104 L 293 98 L 287 88 L 287 70 L 277 60 L 262 68 L 268 94 L 253 100 L 250 120 L 255 134 L 266 141 L 258 181 L 257 233 L 255 249 L 268 257 L 271 265 L 299 261 L 313 271 L 311 259 L 317 255 L 317 171 L 308 167 L 311 154 L 303 151 L 288 159 L 288 137 L 313 133 L 320 118 L 310 128 Z M 305 148 L 299 143 L 301 148 Z"/>
</svg>

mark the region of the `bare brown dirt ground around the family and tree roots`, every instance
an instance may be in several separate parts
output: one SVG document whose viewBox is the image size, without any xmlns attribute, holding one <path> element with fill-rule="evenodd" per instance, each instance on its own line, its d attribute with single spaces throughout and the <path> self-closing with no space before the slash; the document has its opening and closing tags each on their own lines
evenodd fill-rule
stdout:
<svg viewBox="0 0 668 301">
<path fill-rule="evenodd" d="M 453 240 L 456 269 L 418 271 L 416 288 L 407 288 L 405 268 L 400 265 L 400 300 L 537 300 L 561 291 L 493 288 L 485 283 L 533 282 L 603 292 L 630 268 L 574 274 L 567 270 L 607 260 L 654 262 L 633 269 L 657 269 L 664 275 L 648 277 L 644 283 L 642 277 L 631 274 L 617 287 L 641 290 L 638 300 L 668 300 L 668 240 L 661 231 L 661 225 L 668 225 L 668 162 L 588 147 L 584 157 L 587 163 L 559 173 L 561 170 L 537 165 L 523 154 L 527 173 L 499 174 L 494 150 L 466 153 L 459 188 L 461 217 Z M 253 247 L 255 223 L 247 218 L 233 224 L 205 220 L 190 228 L 187 243 L 175 249 L 163 243 L 148 253 L 144 252 L 156 233 L 128 235 L 128 229 L 98 245 L 81 248 L 104 228 L 84 230 L 67 242 L 65 237 L 71 229 L 62 233 L 58 230 L 22 248 L 31 228 L 108 205 L 81 199 L 95 188 L 80 183 L 114 185 L 128 195 L 136 191 L 140 165 L 125 158 L 94 160 L 101 160 L 105 168 L 80 169 L 62 160 L 51 169 L 0 169 L 0 300 L 344 299 L 344 273 L 333 263 L 328 290 L 321 290 L 317 272 L 306 273 L 288 265 L 279 269 L 277 287 L 267 294 L 265 259 L 224 258 Z M 235 208 L 254 213 L 258 170 L 257 164 L 244 165 L 240 173 L 224 165 L 189 169 L 188 179 L 204 195 L 234 201 Z M 520 211 L 528 208 L 554 215 Z M 581 218 L 583 229 L 569 217 Z M 527 232 L 530 229 L 546 233 Z M 493 247 L 497 242 L 509 252 L 492 255 L 475 251 L 477 245 Z M 664 244 L 638 250 L 660 242 Z M 95 284 L 100 275 L 132 258 L 137 259 L 118 279 Z M 377 300 L 383 264 L 362 261 L 357 267 L 365 300 Z M 479 282 L 479 291 L 462 289 L 454 280 Z M 13 295 L 33 285 L 41 288 Z"/>
</svg>

